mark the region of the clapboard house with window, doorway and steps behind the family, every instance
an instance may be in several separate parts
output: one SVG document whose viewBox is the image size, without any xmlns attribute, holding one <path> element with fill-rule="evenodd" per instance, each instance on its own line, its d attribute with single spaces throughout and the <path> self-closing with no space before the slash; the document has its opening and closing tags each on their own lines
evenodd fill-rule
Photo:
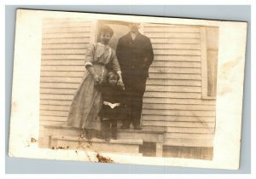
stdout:
<svg viewBox="0 0 256 179">
<path fill-rule="evenodd" d="M 84 55 L 99 26 L 114 30 L 110 45 L 128 32 L 121 21 L 45 19 L 40 78 L 40 147 L 70 147 L 83 139 L 67 113 L 84 75 Z M 218 28 L 142 23 L 154 62 L 143 97 L 143 130 L 118 130 L 118 140 L 93 139 L 96 150 L 212 159 L 215 130 Z M 103 148 L 103 149 L 102 149 Z"/>
</svg>

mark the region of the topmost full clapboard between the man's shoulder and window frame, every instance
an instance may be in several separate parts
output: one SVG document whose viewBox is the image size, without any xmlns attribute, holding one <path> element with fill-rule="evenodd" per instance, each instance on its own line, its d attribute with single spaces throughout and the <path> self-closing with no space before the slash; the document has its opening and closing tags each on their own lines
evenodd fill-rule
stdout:
<svg viewBox="0 0 256 179">
<path fill-rule="evenodd" d="M 199 33 L 200 30 L 198 27 L 187 27 L 187 26 L 145 26 L 144 32 L 177 32 L 177 33 L 183 33 L 183 32 L 196 32 Z"/>
</svg>

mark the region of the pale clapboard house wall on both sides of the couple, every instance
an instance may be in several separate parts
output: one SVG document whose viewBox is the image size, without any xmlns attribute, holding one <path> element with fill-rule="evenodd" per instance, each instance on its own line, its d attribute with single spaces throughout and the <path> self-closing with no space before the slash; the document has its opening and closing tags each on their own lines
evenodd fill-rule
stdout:
<svg viewBox="0 0 256 179">
<path fill-rule="evenodd" d="M 88 20 L 44 20 L 41 126 L 66 124 L 84 74 L 84 53 L 95 42 L 95 32 L 96 23 Z M 202 100 L 201 95 L 201 27 L 144 24 L 143 32 L 154 48 L 143 98 L 143 129 L 166 131 L 166 146 L 212 147 L 215 101 Z M 44 136 L 42 128 L 40 134 Z"/>
</svg>

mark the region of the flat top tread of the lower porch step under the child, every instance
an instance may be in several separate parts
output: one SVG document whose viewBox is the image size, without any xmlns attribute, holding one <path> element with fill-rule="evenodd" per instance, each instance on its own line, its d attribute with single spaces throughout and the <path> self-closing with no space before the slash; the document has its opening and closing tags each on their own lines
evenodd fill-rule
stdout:
<svg viewBox="0 0 256 179">
<path fill-rule="evenodd" d="M 102 139 L 92 138 L 90 140 L 86 140 L 85 138 L 81 138 L 78 136 L 51 136 L 52 139 L 57 140 L 67 140 L 67 141 L 91 141 L 91 142 L 98 142 L 98 143 L 115 143 L 115 144 L 132 144 L 132 145 L 143 145 L 142 139 L 117 139 L 110 141 L 105 141 Z"/>
</svg>

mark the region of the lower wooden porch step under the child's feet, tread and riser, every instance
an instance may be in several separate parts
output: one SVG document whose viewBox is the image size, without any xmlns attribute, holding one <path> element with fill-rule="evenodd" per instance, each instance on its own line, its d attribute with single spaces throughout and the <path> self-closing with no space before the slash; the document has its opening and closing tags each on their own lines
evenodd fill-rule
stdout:
<svg viewBox="0 0 256 179">
<path fill-rule="evenodd" d="M 139 153 L 139 146 L 143 145 L 141 139 L 118 139 L 104 141 L 102 139 L 92 138 L 86 140 L 80 136 L 51 136 L 49 147 L 69 148 L 75 150 L 114 153 Z"/>
</svg>

